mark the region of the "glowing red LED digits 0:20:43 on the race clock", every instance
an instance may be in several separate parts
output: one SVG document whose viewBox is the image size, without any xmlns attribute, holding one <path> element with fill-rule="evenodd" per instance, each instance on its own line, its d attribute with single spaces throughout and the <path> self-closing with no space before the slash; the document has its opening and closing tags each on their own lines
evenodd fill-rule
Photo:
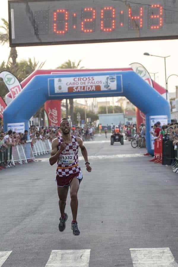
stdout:
<svg viewBox="0 0 178 267">
<path fill-rule="evenodd" d="M 96 29 L 97 16 L 100 16 L 99 27 L 100 30 L 103 32 L 111 32 L 114 31 L 117 27 L 125 26 L 125 16 L 127 16 L 128 18 L 128 29 L 134 29 L 136 27 L 142 29 L 144 26 L 143 7 L 140 6 L 129 7 L 127 14 L 124 14 L 123 10 L 117 10 L 115 7 L 112 6 L 101 8 L 100 14 L 97 14 L 96 8 L 85 7 L 81 10 L 81 32 L 94 32 Z M 69 15 L 69 11 L 67 9 L 56 9 L 53 13 L 53 20 L 53 32 L 55 34 L 67 33 L 69 29 L 70 20 L 72 20 L 73 29 L 77 28 L 76 12 L 74 12 L 72 15 Z M 38 16 L 35 17 L 35 23 L 37 25 L 41 23 L 41 19 L 39 19 Z M 150 30 L 162 28 L 163 7 L 160 4 L 151 4 L 149 6 L 147 24 L 147 27 Z"/>
</svg>

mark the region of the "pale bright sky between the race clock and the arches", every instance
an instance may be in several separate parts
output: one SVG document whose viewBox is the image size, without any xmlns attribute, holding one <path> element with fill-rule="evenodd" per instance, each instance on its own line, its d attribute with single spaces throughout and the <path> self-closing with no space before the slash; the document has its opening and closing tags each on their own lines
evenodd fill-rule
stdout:
<svg viewBox="0 0 178 267">
<path fill-rule="evenodd" d="M 2 4 L 3 3 L 3 4 Z M 8 20 L 8 0 L 1 0 L 0 19 Z M 0 20 L 0 25 L 2 25 Z M 1 29 L 0 29 L 1 31 Z M 147 52 L 152 55 L 170 56 L 166 58 L 166 76 L 178 75 L 178 40 L 155 40 L 134 42 L 109 42 L 95 44 L 75 45 L 49 45 L 34 47 L 17 47 L 18 61 L 34 58 L 36 61 L 45 62 L 43 69 L 55 69 L 65 61 L 76 63 L 81 61 L 81 66 L 89 69 L 97 68 L 128 68 L 129 64 L 141 63 L 148 72 L 156 73 L 155 81 L 166 87 L 164 58 L 143 55 Z M 7 44 L 0 46 L 0 62 L 8 59 L 10 48 Z M 150 74 L 154 79 L 154 74 Z M 178 77 L 168 79 L 168 91 L 175 92 Z M 110 99 L 111 100 L 111 99 Z M 101 101 L 103 101 L 101 99 Z"/>
</svg>

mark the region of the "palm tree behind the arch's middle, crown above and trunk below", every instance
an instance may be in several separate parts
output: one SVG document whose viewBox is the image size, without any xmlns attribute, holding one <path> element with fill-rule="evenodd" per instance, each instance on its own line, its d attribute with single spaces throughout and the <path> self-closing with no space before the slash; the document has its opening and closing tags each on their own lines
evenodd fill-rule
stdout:
<svg viewBox="0 0 178 267">
<path fill-rule="evenodd" d="M 57 69 L 78 69 L 80 62 L 82 60 L 79 60 L 77 64 L 75 64 L 75 61 L 71 62 L 70 60 L 64 62 L 61 64 L 61 66 L 58 66 Z M 84 67 L 80 67 L 80 69 L 83 69 Z M 69 99 L 69 114 L 71 116 L 71 121 L 74 121 L 74 100 Z M 66 118 L 68 118 L 68 100 L 66 99 Z"/>
</svg>

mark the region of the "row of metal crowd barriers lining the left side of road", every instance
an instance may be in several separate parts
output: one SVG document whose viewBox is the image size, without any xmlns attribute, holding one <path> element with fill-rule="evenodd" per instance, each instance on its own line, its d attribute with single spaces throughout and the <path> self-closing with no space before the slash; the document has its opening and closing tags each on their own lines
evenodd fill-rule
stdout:
<svg viewBox="0 0 178 267">
<path fill-rule="evenodd" d="M 0 170 L 7 168 L 7 166 L 35 161 L 35 156 L 50 153 L 51 148 L 52 145 L 48 139 L 45 141 L 36 140 L 32 146 L 31 143 L 7 146 L 7 149 L 0 146 Z"/>
</svg>

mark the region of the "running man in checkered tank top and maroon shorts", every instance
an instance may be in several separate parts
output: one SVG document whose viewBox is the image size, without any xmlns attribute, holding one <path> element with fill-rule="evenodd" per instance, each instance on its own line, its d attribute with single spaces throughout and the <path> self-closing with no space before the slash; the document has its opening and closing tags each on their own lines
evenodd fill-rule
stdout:
<svg viewBox="0 0 178 267">
<path fill-rule="evenodd" d="M 59 231 L 64 231 L 66 228 L 66 220 L 68 218 L 65 213 L 66 199 L 68 190 L 70 187 L 71 196 L 71 211 L 72 211 L 72 222 L 71 229 L 73 235 L 80 235 L 80 231 L 77 225 L 77 209 L 78 199 L 77 192 L 79 190 L 80 182 L 82 181 L 82 171 L 78 166 L 78 149 L 80 147 L 82 155 L 85 160 L 86 169 L 91 172 L 90 163 L 88 162 L 87 150 L 80 137 L 74 135 L 71 136 L 71 126 L 68 119 L 64 118 L 61 120 L 60 128 L 62 136 L 58 136 L 52 142 L 52 150 L 50 155 L 50 165 L 57 162 L 58 167 L 56 171 L 56 182 L 58 186 L 59 196 L 59 209 L 61 217 L 59 219 Z"/>
</svg>

